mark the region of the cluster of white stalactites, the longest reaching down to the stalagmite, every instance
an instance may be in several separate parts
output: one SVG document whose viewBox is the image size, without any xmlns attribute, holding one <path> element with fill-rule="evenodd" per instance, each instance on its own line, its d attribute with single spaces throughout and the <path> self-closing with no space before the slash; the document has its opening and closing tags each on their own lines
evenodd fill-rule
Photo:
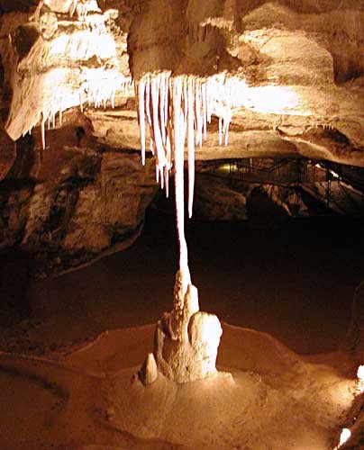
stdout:
<svg viewBox="0 0 364 450">
<path fill-rule="evenodd" d="M 135 84 L 139 103 L 141 161 L 145 164 L 146 122 L 150 128 L 150 150 L 156 157 L 156 178 L 168 195 L 168 173 L 175 168 L 179 268 L 189 283 L 184 225 L 184 161 L 187 142 L 188 214 L 191 217 L 195 184 L 195 145 L 207 137 L 207 122 L 213 112 L 219 117 L 219 142 L 228 142 L 232 119 L 232 90 L 224 74 L 209 77 L 172 76 L 170 72 L 147 73 Z"/>
</svg>

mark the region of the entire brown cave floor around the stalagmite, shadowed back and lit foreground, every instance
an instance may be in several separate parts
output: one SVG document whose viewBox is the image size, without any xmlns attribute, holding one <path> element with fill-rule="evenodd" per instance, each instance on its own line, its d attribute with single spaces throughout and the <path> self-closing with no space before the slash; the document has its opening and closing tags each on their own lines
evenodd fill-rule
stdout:
<svg viewBox="0 0 364 450">
<path fill-rule="evenodd" d="M 177 268 L 174 218 L 150 211 L 132 247 L 80 270 L 29 282 L 16 257 L 3 260 L 3 294 L 28 317 L 1 330 L 1 448 L 338 443 L 356 408 L 356 362 L 336 349 L 364 278 L 361 224 L 187 227 L 200 307 L 223 320 L 217 363 L 232 378 L 178 386 L 159 375 L 144 387 L 135 377 L 152 324 L 171 308 Z"/>
</svg>

